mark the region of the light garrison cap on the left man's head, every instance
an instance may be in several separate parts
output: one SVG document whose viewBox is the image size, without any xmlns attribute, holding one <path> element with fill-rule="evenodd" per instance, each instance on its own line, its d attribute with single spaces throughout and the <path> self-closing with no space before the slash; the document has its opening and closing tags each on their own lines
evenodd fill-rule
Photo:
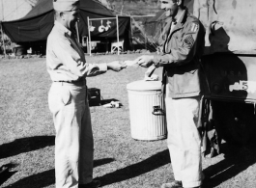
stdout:
<svg viewBox="0 0 256 188">
<path fill-rule="evenodd" d="M 79 0 L 53 0 L 53 9 L 60 12 L 78 10 Z"/>
</svg>

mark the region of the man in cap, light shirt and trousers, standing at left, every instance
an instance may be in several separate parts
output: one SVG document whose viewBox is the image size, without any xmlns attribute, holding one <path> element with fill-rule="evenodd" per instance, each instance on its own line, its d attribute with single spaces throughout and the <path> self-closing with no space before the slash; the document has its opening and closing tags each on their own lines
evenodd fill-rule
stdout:
<svg viewBox="0 0 256 188">
<path fill-rule="evenodd" d="M 56 130 L 57 188 L 95 188 L 93 133 L 87 102 L 86 77 L 124 68 L 118 61 L 88 64 L 74 34 L 79 0 L 54 0 L 55 23 L 47 39 L 46 67 L 53 81 L 49 109 Z"/>
</svg>

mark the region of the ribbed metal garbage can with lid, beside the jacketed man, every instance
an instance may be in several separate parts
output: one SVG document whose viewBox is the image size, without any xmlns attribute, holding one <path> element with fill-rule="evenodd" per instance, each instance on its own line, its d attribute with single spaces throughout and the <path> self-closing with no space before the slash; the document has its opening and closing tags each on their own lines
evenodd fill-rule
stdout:
<svg viewBox="0 0 256 188">
<path fill-rule="evenodd" d="M 139 80 L 127 85 L 130 133 L 135 140 L 156 141 L 167 137 L 160 81 Z"/>
</svg>

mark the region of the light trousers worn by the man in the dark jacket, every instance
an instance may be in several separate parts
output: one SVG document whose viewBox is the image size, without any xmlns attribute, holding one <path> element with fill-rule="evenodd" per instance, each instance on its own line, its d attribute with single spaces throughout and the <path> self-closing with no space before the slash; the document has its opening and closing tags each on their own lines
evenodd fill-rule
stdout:
<svg viewBox="0 0 256 188">
<path fill-rule="evenodd" d="M 181 99 L 165 97 L 167 146 L 174 178 L 182 181 L 186 188 L 202 183 L 201 137 L 196 127 L 199 104 L 199 96 Z"/>
</svg>

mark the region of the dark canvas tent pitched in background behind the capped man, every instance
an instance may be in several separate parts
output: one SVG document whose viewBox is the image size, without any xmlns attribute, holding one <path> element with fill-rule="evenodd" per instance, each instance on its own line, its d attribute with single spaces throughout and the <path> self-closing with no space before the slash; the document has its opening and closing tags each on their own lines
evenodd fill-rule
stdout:
<svg viewBox="0 0 256 188">
<path fill-rule="evenodd" d="M 80 21 L 78 23 L 79 37 L 88 36 L 88 18 L 115 18 L 116 15 L 105 8 L 96 0 L 80 0 Z M 116 19 L 109 19 L 109 30 L 95 30 L 91 32 L 92 40 L 117 39 Z M 130 42 L 130 18 L 128 16 L 118 16 L 119 36 Z M 106 25 L 107 19 L 95 20 L 90 25 L 99 28 Z M 108 22 L 109 24 L 109 22 Z M 37 5 L 24 17 L 13 20 L 3 21 L 2 26 L 8 37 L 17 43 L 45 41 L 54 25 L 54 10 L 52 0 L 39 0 Z M 125 42 L 126 43 L 126 42 Z"/>
</svg>

